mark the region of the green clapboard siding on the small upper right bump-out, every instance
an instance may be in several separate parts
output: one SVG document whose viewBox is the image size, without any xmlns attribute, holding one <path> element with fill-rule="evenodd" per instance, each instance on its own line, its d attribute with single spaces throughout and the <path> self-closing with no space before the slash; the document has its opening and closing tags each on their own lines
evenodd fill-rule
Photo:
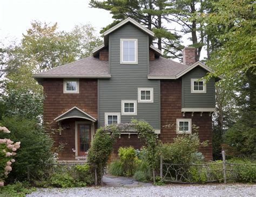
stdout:
<svg viewBox="0 0 256 197">
<path fill-rule="evenodd" d="M 196 67 L 182 78 L 182 108 L 215 108 L 215 80 L 206 83 L 206 93 L 191 93 L 191 79 L 200 79 L 206 75 L 203 68 Z"/>
</svg>

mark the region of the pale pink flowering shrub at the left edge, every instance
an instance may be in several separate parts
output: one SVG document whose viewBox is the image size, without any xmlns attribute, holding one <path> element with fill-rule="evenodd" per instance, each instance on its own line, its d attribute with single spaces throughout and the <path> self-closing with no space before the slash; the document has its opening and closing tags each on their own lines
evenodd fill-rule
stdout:
<svg viewBox="0 0 256 197">
<path fill-rule="evenodd" d="M 0 132 L 10 133 L 5 126 L 0 126 Z M 4 186 L 4 178 L 8 176 L 12 170 L 11 164 L 15 162 L 12 156 L 16 155 L 21 142 L 14 143 L 12 140 L 4 138 L 0 139 L 0 186 Z"/>
</svg>

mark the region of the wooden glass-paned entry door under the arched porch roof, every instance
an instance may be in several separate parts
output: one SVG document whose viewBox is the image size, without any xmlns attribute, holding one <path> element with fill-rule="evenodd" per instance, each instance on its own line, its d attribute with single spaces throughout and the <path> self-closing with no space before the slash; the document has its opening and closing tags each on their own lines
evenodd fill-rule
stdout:
<svg viewBox="0 0 256 197">
<path fill-rule="evenodd" d="M 90 147 L 91 142 L 91 125 L 78 124 L 78 156 L 85 155 Z"/>
</svg>

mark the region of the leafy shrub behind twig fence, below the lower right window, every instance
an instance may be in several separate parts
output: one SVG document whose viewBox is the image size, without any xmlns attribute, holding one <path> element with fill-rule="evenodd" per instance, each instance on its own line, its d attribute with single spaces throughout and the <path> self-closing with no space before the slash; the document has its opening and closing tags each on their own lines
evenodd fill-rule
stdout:
<svg viewBox="0 0 256 197">
<path fill-rule="evenodd" d="M 200 142 L 198 133 L 181 134 L 173 139 L 173 143 L 159 144 L 158 152 L 173 164 L 190 164 L 202 159 L 197 152 L 204 146 L 207 146 L 207 141 Z"/>
</svg>

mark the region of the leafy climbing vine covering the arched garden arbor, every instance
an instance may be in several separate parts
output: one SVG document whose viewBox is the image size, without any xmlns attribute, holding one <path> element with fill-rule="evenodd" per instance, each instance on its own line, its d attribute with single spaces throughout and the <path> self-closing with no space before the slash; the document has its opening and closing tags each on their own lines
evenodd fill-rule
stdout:
<svg viewBox="0 0 256 197">
<path fill-rule="evenodd" d="M 120 133 L 127 131 L 138 133 L 139 137 L 145 141 L 145 147 L 148 152 L 147 160 L 153 170 L 154 178 L 154 169 L 159 160 L 156 157 L 157 136 L 149 123 L 132 119 L 131 123 L 107 125 L 96 131 L 87 158 L 92 168 L 97 171 L 99 182 L 102 182 L 103 170 L 113 150 L 113 144 L 116 142 L 116 138 Z"/>
</svg>

